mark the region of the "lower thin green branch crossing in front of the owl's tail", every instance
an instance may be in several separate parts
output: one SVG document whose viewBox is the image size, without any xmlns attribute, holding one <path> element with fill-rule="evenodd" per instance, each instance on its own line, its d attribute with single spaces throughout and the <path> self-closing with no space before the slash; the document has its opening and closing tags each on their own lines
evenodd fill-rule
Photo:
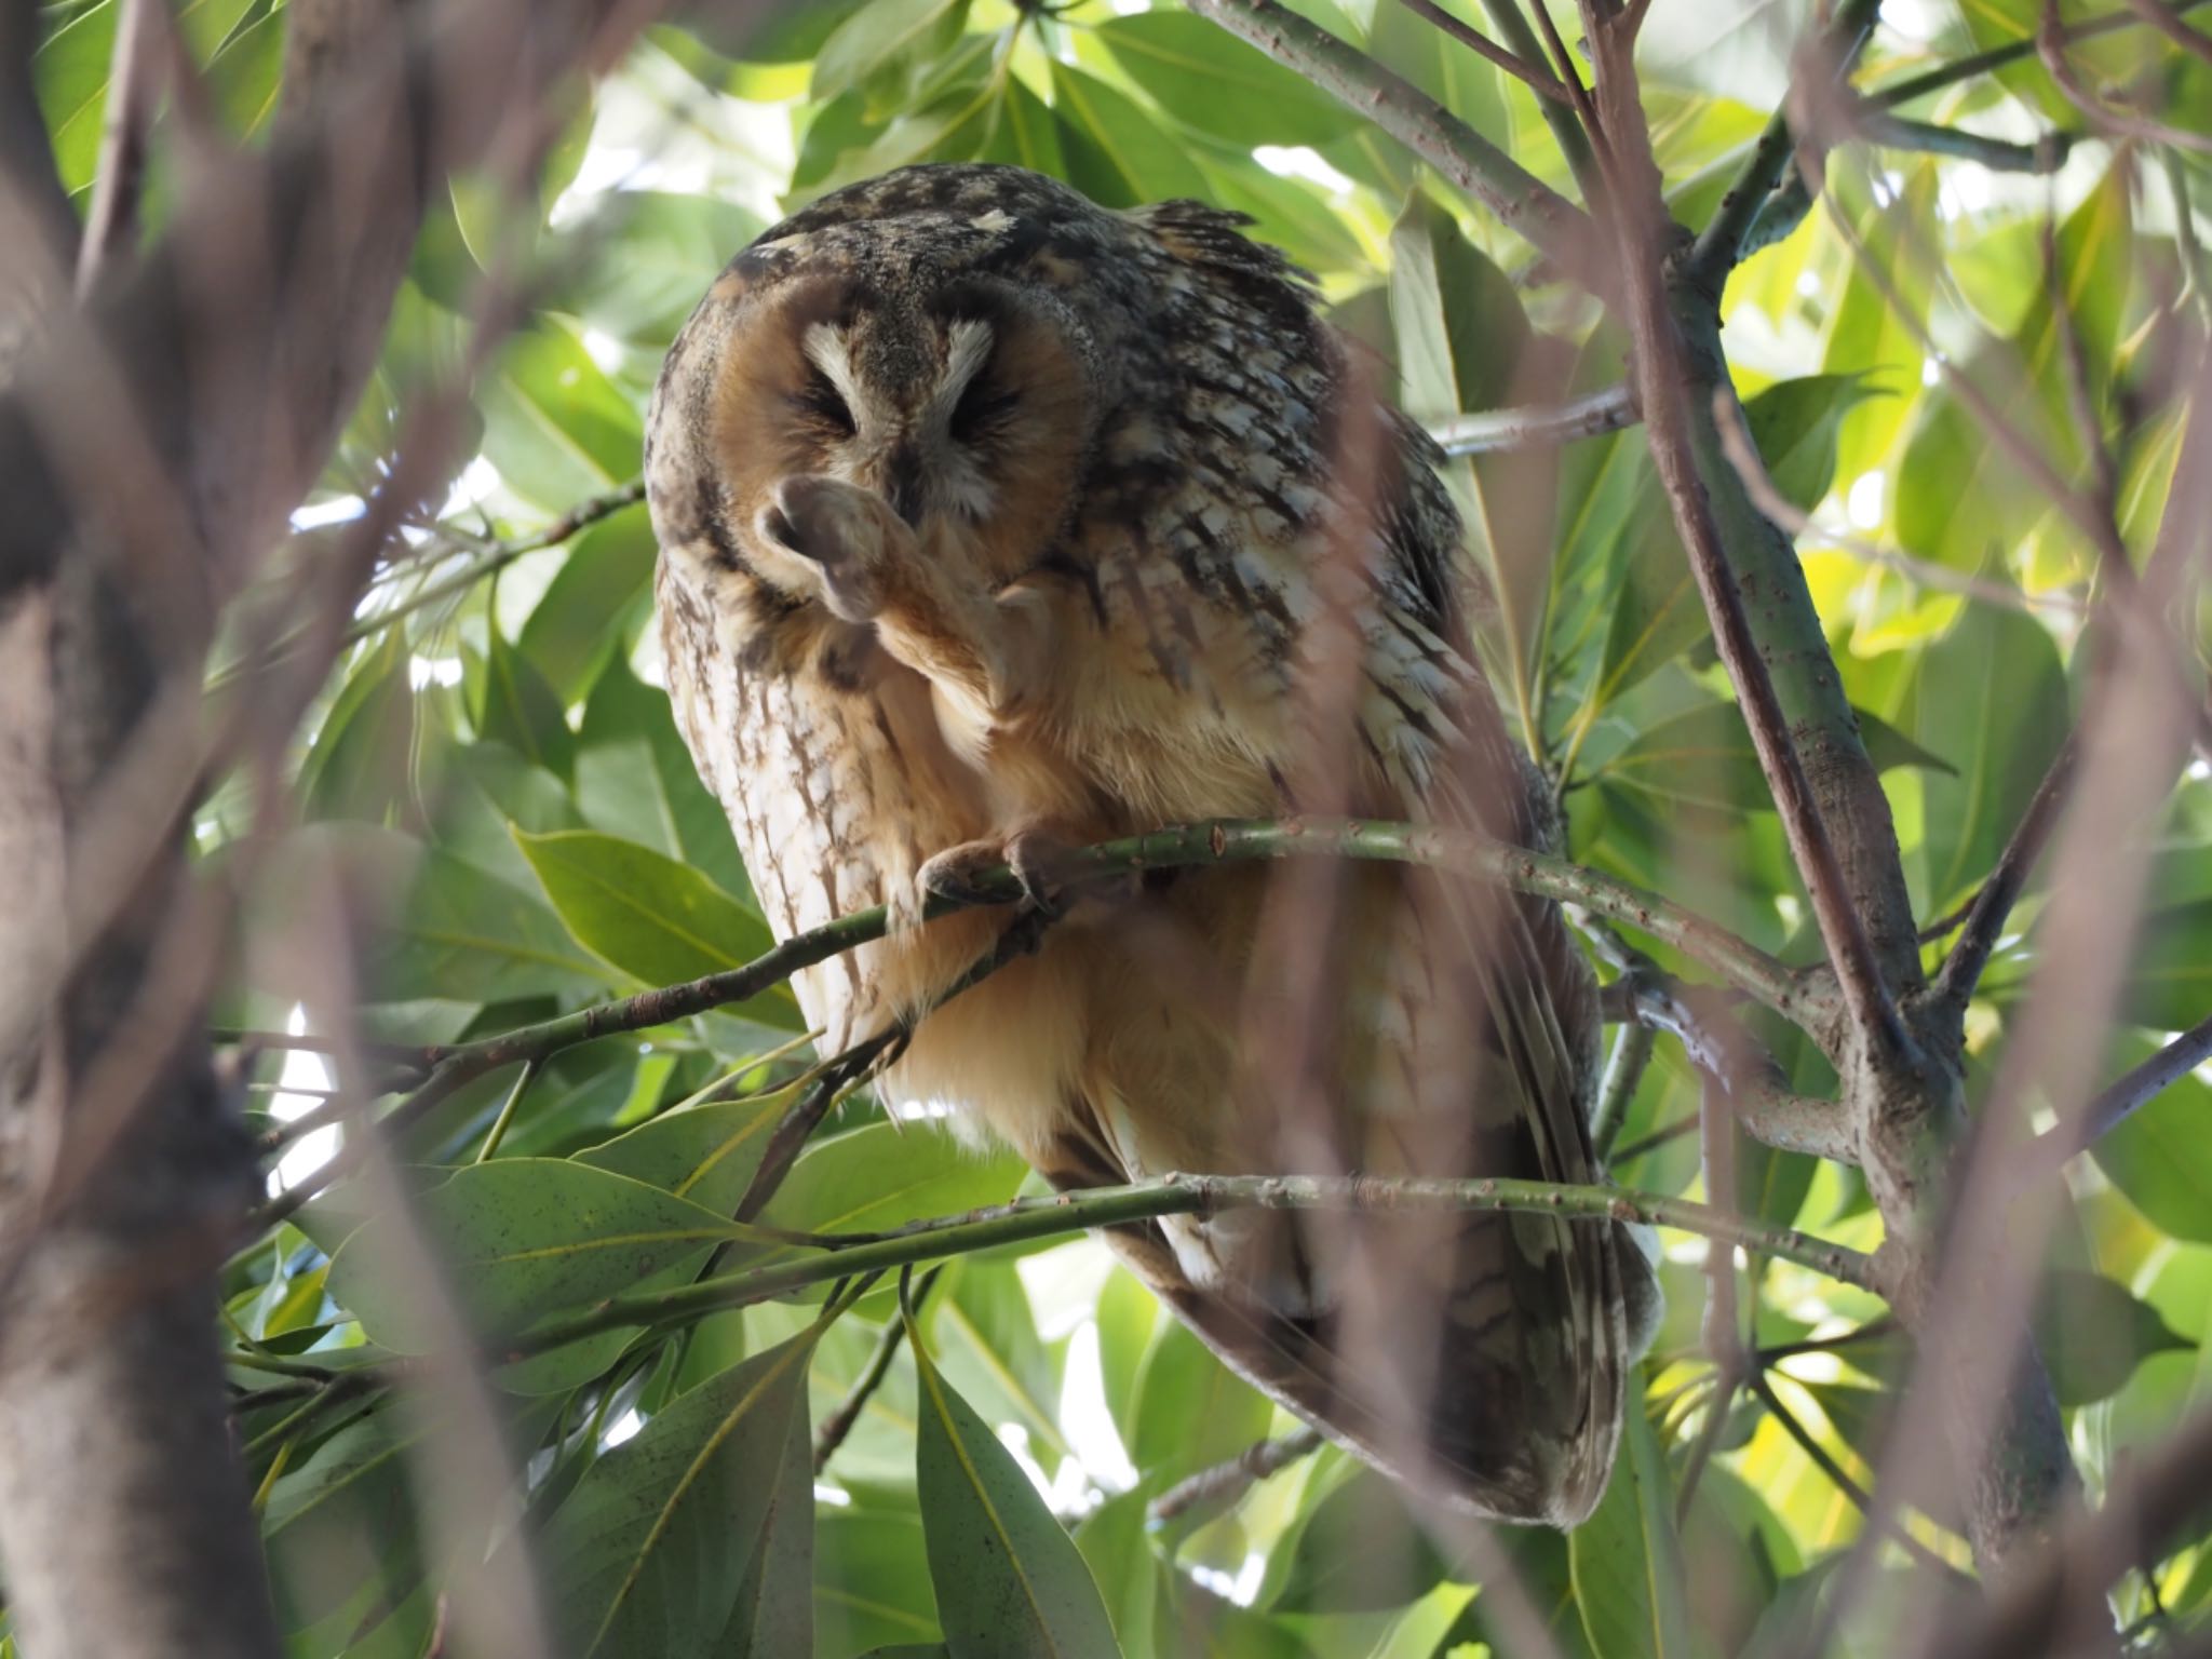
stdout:
<svg viewBox="0 0 2212 1659">
<path fill-rule="evenodd" d="M 810 1285 L 827 1285 L 852 1274 L 907 1267 L 975 1250 L 1057 1239 L 1088 1228 L 1126 1228 L 1170 1214 L 1219 1214 L 1223 1210 L 1402 1210 L 1402 1212 L 1517 1212 L 1559 1214 L 1577 1221 L 1646 1221 L 1677 1232 L 1694 1232 L 1728 1245 L 1794 1261 L 1812 1272 L 1885 1294 L 1887 1279 L 1865 1252 L 1814 1239 L 1796 1228 L 1772 1228 L 1741 1214 L 1714 1210 L 1657 1192 L 1606 1186 L 1562 1186 L 1555 1181 L 1380 1181 L 1374 1177 L 1318 1175 L 1166 1175 L 1135 1186 L 1091 1188 L 1046 1199 L 1015 1199 L 993 1210 L 942 1221 L 922 1221 L 891 1234 L 869 1237 L 843 1250 L 823 1250 L 803 1261 L 785 1261 L 750 1272 L 701 1279 L 672 1290 L 615 1296 L 597 1307 L 553 1318 L 504 1347 L 507 1354 L 542 1354 L 566 1343 L 630 1327 L 657 1327 L 750 1307 Z"/>
</svg>

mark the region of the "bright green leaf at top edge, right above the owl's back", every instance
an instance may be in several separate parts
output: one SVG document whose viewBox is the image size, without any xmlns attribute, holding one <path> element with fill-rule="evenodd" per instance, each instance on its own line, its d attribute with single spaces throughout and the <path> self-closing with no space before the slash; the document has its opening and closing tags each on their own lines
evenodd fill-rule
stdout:
<svg viewBox="0 0 2212 1659">
<path fill-rule="evenodd" d="M 1186 126 L 1237 144 L 1327 144 L 1358 115 L 1225 29 L 1188 11 L 1097 27 L 1121 71 Z"/>
</svg>

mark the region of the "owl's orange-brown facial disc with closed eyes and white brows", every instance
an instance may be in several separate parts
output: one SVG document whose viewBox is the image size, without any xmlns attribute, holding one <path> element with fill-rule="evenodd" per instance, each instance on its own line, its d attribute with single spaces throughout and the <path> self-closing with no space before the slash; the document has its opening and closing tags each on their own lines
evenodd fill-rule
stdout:
<svg viewBox="0 0 2212 1659">
<path fill-rule="evenodd" d="M 962 575 L 998 586 L 1033 568 L 1088 440 L 1068 319 L 980 274 L 779 274 L 739 299 L 710 414 L 721 529 L 754 573 L 814 595 L 781 504 L 790 480 L 821 476 L 880 495 Z"/>
</svg>

